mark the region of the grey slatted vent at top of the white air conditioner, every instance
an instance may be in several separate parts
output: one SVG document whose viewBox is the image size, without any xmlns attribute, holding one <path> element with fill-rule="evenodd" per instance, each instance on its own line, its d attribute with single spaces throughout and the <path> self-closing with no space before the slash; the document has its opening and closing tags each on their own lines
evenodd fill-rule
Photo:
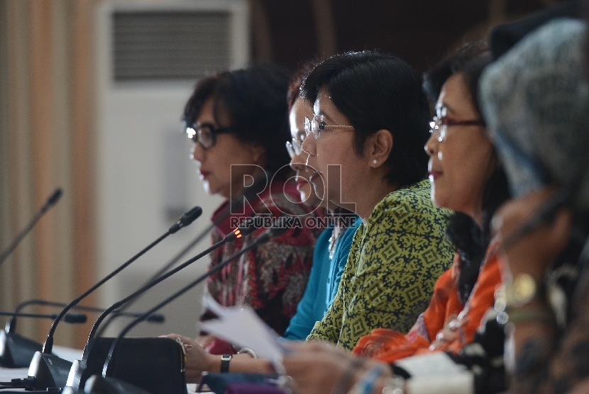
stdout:
<svg viewBox="0 0 589 394">
<path fill-rule="evenodd" d="M 229 11 L 116 11 L 115 81 L 199 79 L 231 66 Z"/>
</svg>

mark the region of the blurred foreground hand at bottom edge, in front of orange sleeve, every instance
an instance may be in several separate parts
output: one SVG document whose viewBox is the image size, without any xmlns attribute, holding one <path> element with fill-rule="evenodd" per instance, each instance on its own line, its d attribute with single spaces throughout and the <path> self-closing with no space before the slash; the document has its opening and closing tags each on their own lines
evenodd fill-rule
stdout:
<svg viewBox="0 0 589 394">
<path fill-rule="evenodd" d="M 283 364 L 299 393 L 331 393 L 344 375 L 353 373 L 348 385 L 343 388 L 343 393 L 347 393 L 366 369 L 375 364 L 375 361 L 365 359 L 355 371 L 348 371 L 351 363 L 358 358 L 333 344 L 314 341 L 290 344 L 290 347 L 293 351 L 285 356 Z M 387 367 L 386 371 L 390 368 Z"/>
</svg>

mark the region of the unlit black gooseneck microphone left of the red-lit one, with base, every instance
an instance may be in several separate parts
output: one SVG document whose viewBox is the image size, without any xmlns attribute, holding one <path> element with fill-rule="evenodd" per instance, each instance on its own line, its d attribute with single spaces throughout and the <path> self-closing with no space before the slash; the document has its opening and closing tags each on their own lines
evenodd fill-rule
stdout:
<svg viewBox="0 0 589 394">
<path fill-rule="evenodd" d="M 202 208 L 199 206 L 189 210 L 187 213 L 182 215 L 177 223 L 172 225 L 172 227 L 170 227 L 170 229 L 168 229 L 164 235 L 149 244 L 148 247 L 145 247 L 145 249 L 141 250 L 141 252 L 131 257 L 131 259 L 119 266 L 119 268 L 112 271 L 111 274 L 102 278 L 101 281 L 82 293 L 82 295 L 79 295 L 79 297 L 75 298 L 75 300 L 72 300 L 72 302 L 67 304 L 65 308 L 62 309 L 62 311 L 53 321 L 53 325 L 51 325 L 47 339 L 45 339 L 45 344 L 43 344 L 42 351 L 40 353 L 35 353 L 35 356 L 33 356 L 33 360 L 31 361 L 31 365 L 28 368 L 28 376 L 35 378 L 33 387 L 35 390 L 43 390 L 46 388 L 63 388 L 65 386 L 65 382 L 67 381 L 67 374 L 70 371 L 72 363 L 51 354 L 53 349 L 53 334 L 55 333 L 57 324 L 60 322 L 62 317 L 73 306 L 77 305 L 84 297 L 99 288 L 99 286 L 104 284 L 116 274 L 119 274 L 119 272 L 123 271 L 123 269 L 133 263 L 133 261 L 136 261 L 136 259 L 145 254 L 145 252 L 148 252 L 149 249 L 153 248 L 156 244 L 160 243 L 170 234 L 177 232 L 182 227 L 192 224 L 192 222 L 194 222 L 194 220 L 196 220 L 200 215 L 202 215 Z M 33 381 L 33 379 L 31 379 L 31 381 Z"/>
</svg>

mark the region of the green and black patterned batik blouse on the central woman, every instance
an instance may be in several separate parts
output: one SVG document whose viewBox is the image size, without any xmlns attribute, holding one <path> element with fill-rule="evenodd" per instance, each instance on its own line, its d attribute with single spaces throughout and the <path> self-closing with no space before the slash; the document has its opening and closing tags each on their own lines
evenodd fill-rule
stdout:
<svg viewBox="0 0 589 394">
<path fill-rule="evenodd" d="M 334 302 L 307 340 L 351 350 L 379 327 L 407 332 L 452 264 L 444 236 L 452 212 L 436 208 L 429 181 L 389 193 L 358 227 Z"/>
</svg>

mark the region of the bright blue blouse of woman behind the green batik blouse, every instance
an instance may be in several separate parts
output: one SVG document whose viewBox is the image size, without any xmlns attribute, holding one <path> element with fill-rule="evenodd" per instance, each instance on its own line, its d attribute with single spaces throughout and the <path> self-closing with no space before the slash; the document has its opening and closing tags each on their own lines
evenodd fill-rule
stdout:
<svg viewBox="0 0 589 394">
<path fill-rule="evenodd" d="M 290 325 L 283 335 L 286 339 L 307 338 L 315 322 L 323 319 L 337 293 L 341 274 L 348 261 L 354 232 L 360 223 L 362 220 L 357 218 L 356 223 L 340 236 L 334 248 L 333 259 L 329 258 L 329 238 L 334 232 L 334 227 L 326 228 L 317 238 L 307 288 L 297 306 L 297 313 L 290 320 Z"/>
</svg>

